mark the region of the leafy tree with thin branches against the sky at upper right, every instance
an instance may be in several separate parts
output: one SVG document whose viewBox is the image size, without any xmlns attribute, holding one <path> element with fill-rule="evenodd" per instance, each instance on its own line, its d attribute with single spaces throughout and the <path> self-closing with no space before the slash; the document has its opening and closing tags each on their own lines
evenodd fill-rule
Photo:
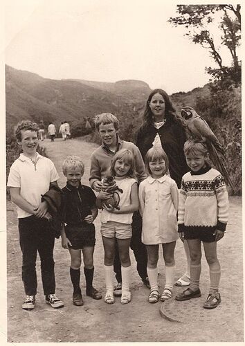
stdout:
<svg viewBox="0 0 245 346">
<path fill-rule="evenodd" d="M 237 47 L 241 39 L 241 6 L 237 5 L 177 5 L 179 16 L 171 17 L 169 22 L 174 26 L 185 26 L 188 36 L 194 44 L 200 44 L 203 48 L 210 50 L 212 59 L 219 66 L 218 69 L 207 67 L 206 71 L 216 80 L 222 80 L 227 75 L 231 78 L 241 80 L 241 65 L 237 56 Z M 221 44 L 230 51 L 233 64 L 224 66 L 219 47 L 215 43 L 212 35 L 212 25 L 219 18 L 219 28 L 221 29 Z"/>
</svg>

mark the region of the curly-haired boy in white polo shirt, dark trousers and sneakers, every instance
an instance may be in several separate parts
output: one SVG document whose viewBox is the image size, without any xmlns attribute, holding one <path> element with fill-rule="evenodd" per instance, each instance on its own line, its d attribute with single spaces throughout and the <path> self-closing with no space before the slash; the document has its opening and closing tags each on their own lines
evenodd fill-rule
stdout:
<svg viewBox="0 0 245 346">
<path fill-rule="evenodd" d="M 13 203 L 17 206 L 19 219 L 19 244 L 22 251 L 22 280 L 26 300 L 22 309 L 35 307 L 37 293 L 37 251 L 41 260 L 42 284 L 45 301 L 53 308 L 64 307 L 55 295 L 55 272 L 53 248 L 55 235 L 50 228 L 46 201 L 41 202 L 51 184 L 59 178 L 55 165 L 49 158 L 37 153 L 39 128 L 35 122 L 24 120 L 15 129 L 17 143 L 23 153 L 10 167 L 8 187 Z"/>
</svg>

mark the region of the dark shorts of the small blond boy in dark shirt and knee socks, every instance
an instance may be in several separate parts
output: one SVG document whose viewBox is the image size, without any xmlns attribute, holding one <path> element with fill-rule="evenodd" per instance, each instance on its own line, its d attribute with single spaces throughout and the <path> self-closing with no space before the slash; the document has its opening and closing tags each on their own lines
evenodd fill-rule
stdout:
<svg viewBox="0 0 245 346">
<path fill-rule="evenodd" d="M 66 237 L 71 242 L 74 250 L 96 245 L 96 228 L 93 224 L 85 226 L 65 226 Z"/>
</svg>

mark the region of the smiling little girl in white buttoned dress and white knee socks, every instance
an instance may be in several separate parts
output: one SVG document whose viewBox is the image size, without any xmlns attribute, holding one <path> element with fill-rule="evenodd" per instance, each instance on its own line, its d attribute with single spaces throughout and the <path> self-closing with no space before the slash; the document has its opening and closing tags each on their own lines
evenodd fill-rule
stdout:
<svg viewBox="0 0 245 346">
<path fill-rule="evenodd" d="M 174 248 L 178 236 L 178 188 L 173 179 L 167 176 L 168 159 L 163 149 L 152 147 L 145 155 L 148 178 L 140 183 L 140 214 L 143 217 L 142 242 L 148 255 L 147 274 L 151 291 L 148 302 L 159 299 L 157 283 L 159 244 L 163 247 L 165 262 L 165 286 L 161 301 L 172 298 L 174 285 L 175 261 Z"/>
</svg>

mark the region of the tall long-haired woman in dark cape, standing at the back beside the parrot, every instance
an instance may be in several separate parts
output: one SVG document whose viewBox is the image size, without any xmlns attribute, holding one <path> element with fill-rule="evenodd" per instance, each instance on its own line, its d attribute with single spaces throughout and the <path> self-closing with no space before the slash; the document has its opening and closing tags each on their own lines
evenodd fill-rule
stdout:
<svg viewBox="0 0 245 346">
<path fill-rule="evenodd" d="M 181 187 L 181 178 L 188 172 L 188 165 L 183 154 L 186 135 L 181 116 L 177 116 L 170 97 L 162 89 L 154 89 L 147 99 L 143 113 L 143 124 L 136 134 L 136 145 L 145 159 L 151 147 L 160 147 L 167 154 L 169 173 Z M 184 242 L 187 269 L 185 274 L 176 281 L 176 286 L 190 284 L 190 253 L 187 242 Z"/>
</svg>

